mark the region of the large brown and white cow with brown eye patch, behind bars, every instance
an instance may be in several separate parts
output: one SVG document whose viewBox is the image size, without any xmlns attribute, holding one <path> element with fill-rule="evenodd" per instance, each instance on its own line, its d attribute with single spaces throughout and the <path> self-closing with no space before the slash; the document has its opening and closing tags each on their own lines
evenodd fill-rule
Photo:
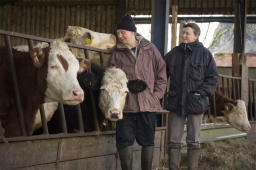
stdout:
<svg viewBox="0 0 256 170">
<path fill-rule="evenodd" d="M 21 135 L 15 91 L 9 67 L 7 48 L 1 46 L 1 122 L 6 137 Z M 26 132 L 32 135 L 35 115 L 41 104 L 60 102 L 76 105 L 83 101 L 83 90 L 77 74 L 89 69 L 91 62 L 76 59 L 61 40 L 49 47 L 30 52 L 12 49 Z"/>
</svg>

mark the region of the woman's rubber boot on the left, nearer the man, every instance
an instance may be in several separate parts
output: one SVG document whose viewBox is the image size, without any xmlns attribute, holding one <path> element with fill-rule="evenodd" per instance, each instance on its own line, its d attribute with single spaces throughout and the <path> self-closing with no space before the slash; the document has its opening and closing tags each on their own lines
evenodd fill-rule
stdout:
<svg viewBox="0 0 256 170">
<path fill-rule="evenodd" d="M 180 155 L 181 155 L 181 148 L 174 149 L 169 148 L 169 170 L 178 170 L 180 168 Z"/>
</svg>

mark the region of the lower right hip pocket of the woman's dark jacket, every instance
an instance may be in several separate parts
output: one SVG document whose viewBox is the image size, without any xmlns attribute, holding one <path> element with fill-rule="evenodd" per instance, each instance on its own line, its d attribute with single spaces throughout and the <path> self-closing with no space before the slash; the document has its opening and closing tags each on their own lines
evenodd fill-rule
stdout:
<svg viewBox="0 0 256 170">
<path fill-rule="evenodd" d="M 204 110 L 202 96 L 189 93 L 187 97 L 187 113 L 200 115 L 204 113 Z"/>
</svg>

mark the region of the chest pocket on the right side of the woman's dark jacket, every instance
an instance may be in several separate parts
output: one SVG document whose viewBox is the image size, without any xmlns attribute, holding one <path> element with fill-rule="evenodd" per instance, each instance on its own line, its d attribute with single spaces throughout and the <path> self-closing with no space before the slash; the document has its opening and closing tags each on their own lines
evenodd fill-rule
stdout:
<svg viewBox="0 0 256 170">
<path fill-rule="evenodd" d="M 191 63 L 189 76 L 192 80 L 200 81 L 204 78 L 204 65 L 196 62 Z"/>
</svg>

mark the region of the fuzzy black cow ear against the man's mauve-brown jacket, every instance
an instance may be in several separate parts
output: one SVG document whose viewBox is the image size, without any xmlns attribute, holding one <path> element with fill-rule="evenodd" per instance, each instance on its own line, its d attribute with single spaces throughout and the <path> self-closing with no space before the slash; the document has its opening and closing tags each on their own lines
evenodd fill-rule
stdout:
<svg viewBox="0 0 256 170">
<path fill-rule="evenodd" d="M 129 80 L 127 83 L 127 87 L 131 93 L 140 93 L 147 89 L 148 85 L 143 80 Z"/>
</svg>

